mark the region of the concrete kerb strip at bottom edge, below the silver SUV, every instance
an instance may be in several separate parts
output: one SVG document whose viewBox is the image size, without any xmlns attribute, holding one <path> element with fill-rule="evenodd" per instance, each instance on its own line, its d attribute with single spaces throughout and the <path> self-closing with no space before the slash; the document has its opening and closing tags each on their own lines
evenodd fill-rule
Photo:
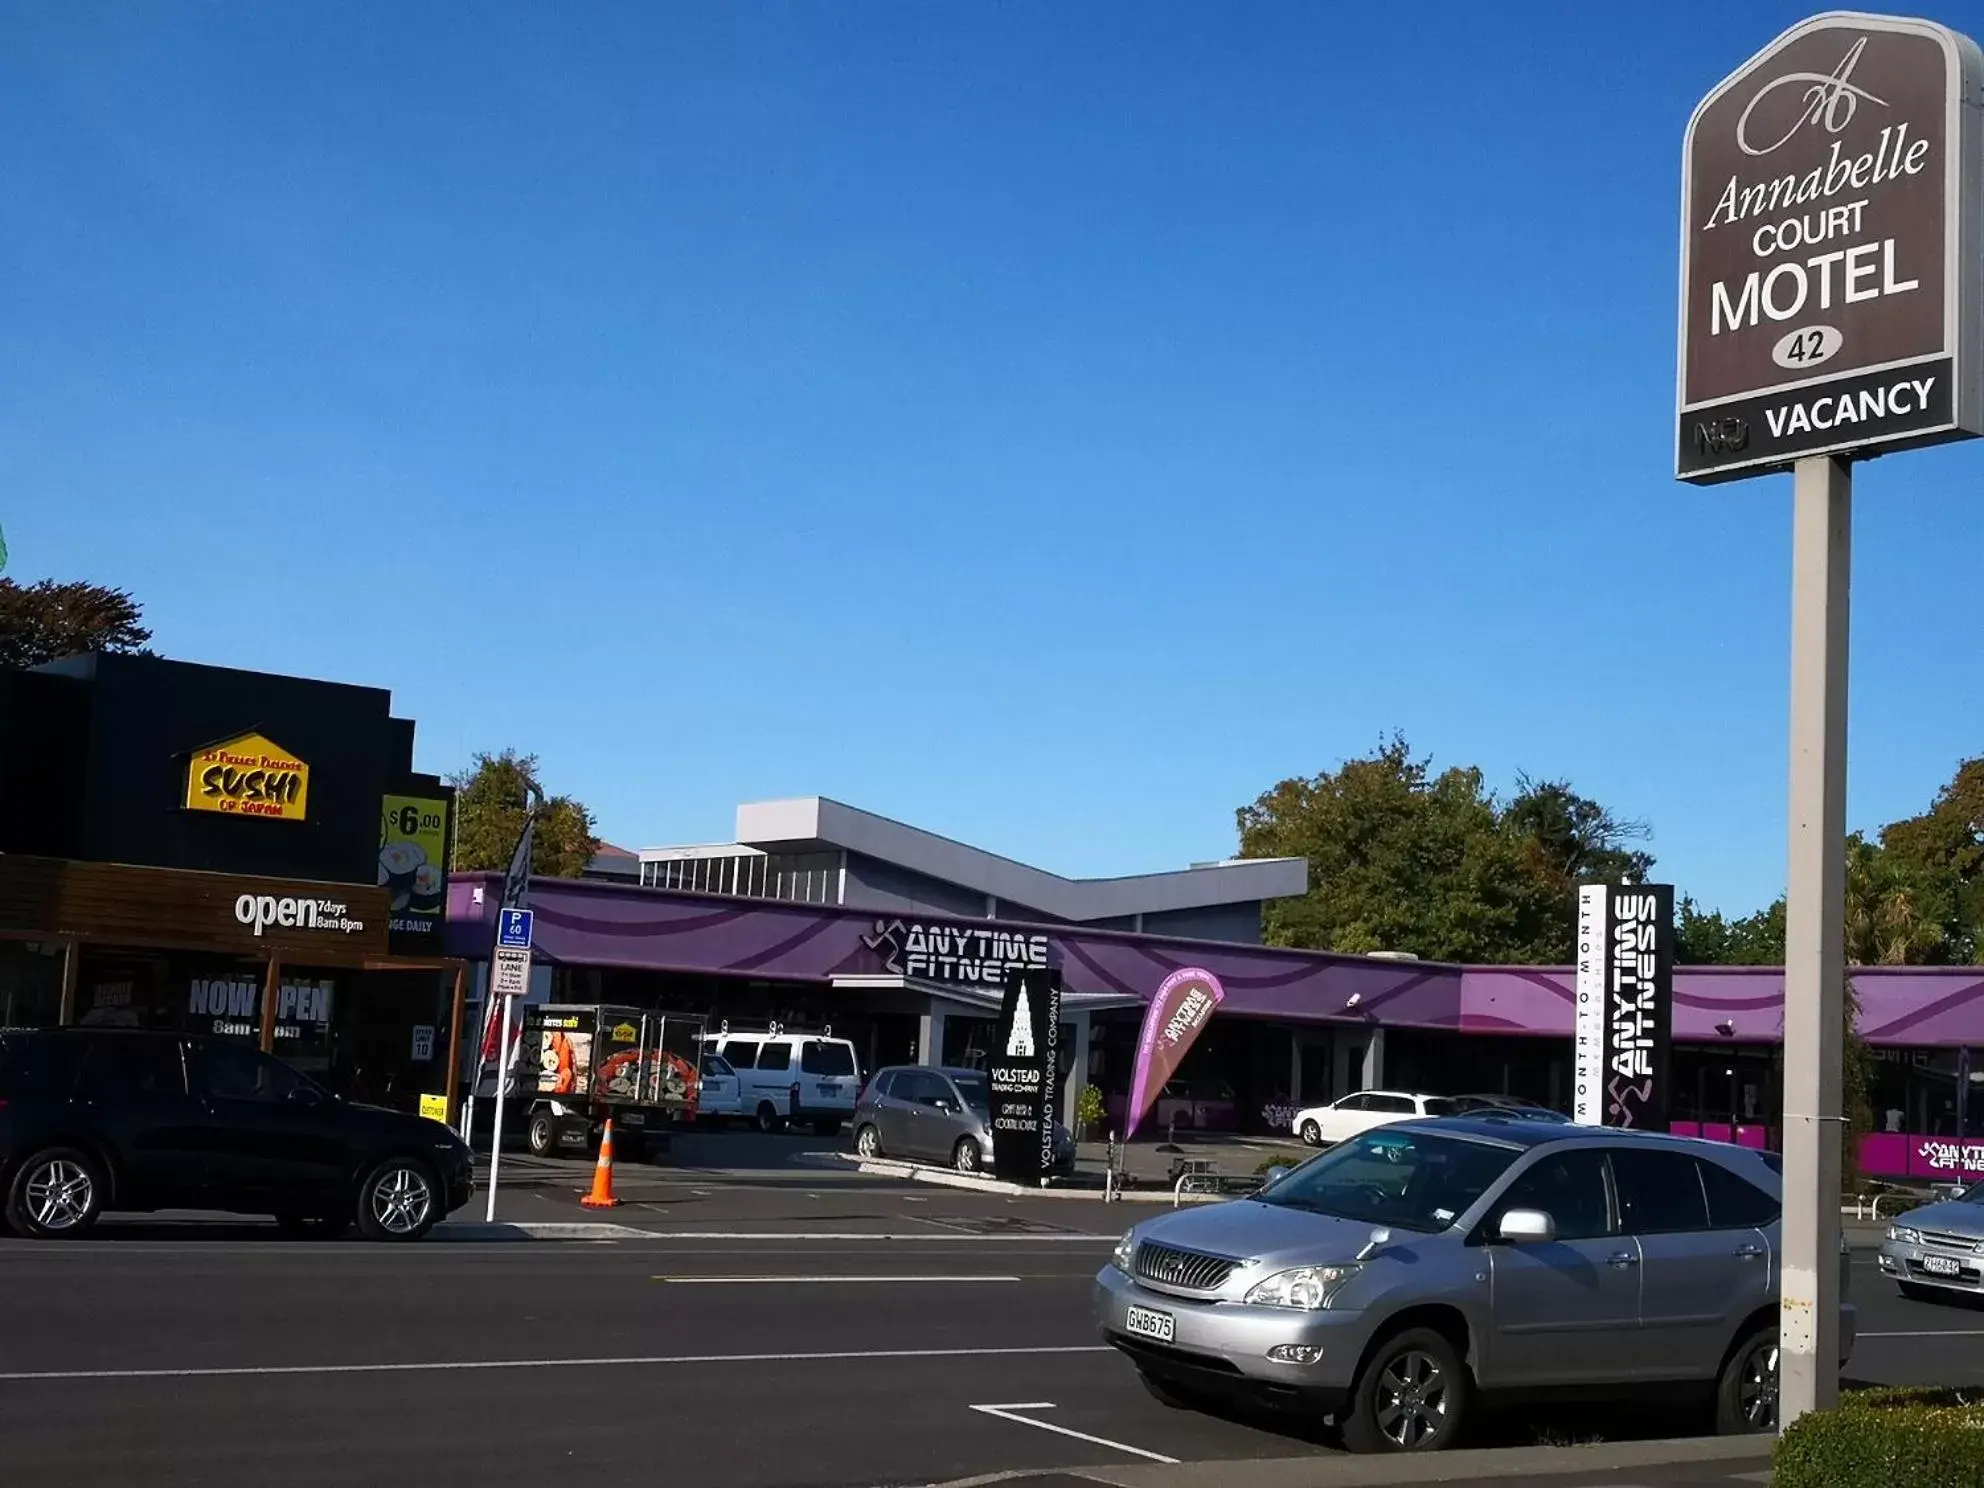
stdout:
<svg viewBox="0 0 1984 1488">
<path fill-rule="evenodd" d="M 1494 1482 L 1500 1478 L 1591 1478 L 1692 1464 L 1730 1464 L 1746 1470 L 1770 1460 L 1776 1436 L 1684 1436 L 1653 1442 L 1597 1442 L 1591 1446 L 1498 1446 L 1425 1456 L 1278 1456 L 1254 1462 L 1180 1462 L 1178 1466 L 1055 1468 L 1000 1474 L 1006 1482 L 1028 1478 L 1083 1478 L 1111 1488 L 1407 1488 L 1409 1484 Z M 942 1488 L 962 1488 L 944 1484 Z"/>
</svg>

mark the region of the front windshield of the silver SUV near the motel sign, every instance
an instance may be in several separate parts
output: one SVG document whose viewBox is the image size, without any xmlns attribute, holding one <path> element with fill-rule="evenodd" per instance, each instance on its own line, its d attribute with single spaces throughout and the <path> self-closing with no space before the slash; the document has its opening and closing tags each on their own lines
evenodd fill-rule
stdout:
<svg viewBox="0 0 1984 1488">
<path fill-rule="evenodd" d="M 1518 1157 L 1520 1147 L 1502 1143 L 1383 1127 L 1303 1163 L 1260 1202 L 1438 1234 Z"/>
</svg>

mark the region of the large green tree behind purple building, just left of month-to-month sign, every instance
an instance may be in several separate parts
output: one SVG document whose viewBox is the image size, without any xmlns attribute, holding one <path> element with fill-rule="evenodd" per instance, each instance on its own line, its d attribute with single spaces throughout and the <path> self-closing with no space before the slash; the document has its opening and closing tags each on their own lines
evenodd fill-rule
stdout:
<svg viewBox="0 0 1984 1488">
<path fill-rule="evenodd" d="M 1284 780 L 1236 813 L 1242 857 L 1309 859 L 1309 891 L 1268 905 L 1270 944 L 1432 960 L 1563 960 L 1575 905 L 1504 823 L 1480 770 L 1432 772 L 1395 734 Z"/>
</svg>

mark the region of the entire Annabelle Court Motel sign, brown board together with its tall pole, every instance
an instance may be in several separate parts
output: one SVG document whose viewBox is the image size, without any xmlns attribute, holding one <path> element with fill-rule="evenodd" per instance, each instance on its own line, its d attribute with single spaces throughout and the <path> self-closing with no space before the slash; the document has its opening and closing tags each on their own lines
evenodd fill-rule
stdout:
<svg viewBox="0 0 1984 1488">
<path fill-rule="evenodd" d="M 1794 470 L 1780 1428 L 1839 1395 L 1849 460 L 1984 433 L 1980 89 L 1970 38 L 1831 12 L 1682 145 L 1674 472 Z"/>
</svg>

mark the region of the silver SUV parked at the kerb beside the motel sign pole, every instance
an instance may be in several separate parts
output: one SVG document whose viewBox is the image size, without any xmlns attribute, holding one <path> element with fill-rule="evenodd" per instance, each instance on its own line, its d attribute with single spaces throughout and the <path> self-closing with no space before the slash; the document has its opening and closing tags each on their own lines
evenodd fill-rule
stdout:
<svg viewBox="0 0 1984 1488">
<path fill-rule="evenodd" d="M 1778 1206 L 1776 1159 L 1740 1147 L 1407 1121 L 1139 1224 L 1095 1309 L 1167 1405 L 1305 1409 L 1361 1452 L 1438 1450 L 1476 1395 L 1538 1389 L 1698 1387 L 1718 1430 L 1770 1430 Z"/>
</svg>

